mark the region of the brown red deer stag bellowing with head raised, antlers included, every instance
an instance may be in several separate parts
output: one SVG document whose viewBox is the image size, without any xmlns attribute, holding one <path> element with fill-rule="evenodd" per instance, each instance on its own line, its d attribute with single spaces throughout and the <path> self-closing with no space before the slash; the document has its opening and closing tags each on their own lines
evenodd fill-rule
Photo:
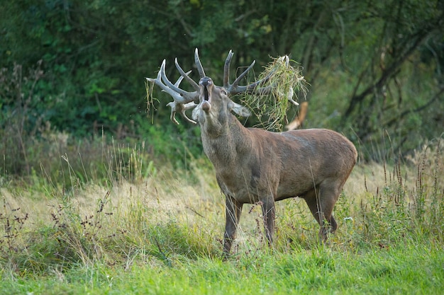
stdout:
<svg viewBox="0 0 444 295">
<path fill-rule="evenodd" d="M 230 83 L 232 57 L 230 51 L 223 69 L 223 86 L 214 85 L 205 75 L 197 49 L 194 59 L 201 76 L 199 83 L 188 76 L 189 72 L 184 72 L 177 59 L 175 64 L 181 77 L 176 83 L 167 79 L 165 59 L 157 78 L 147 78 L 172 96 L 174 101 L 168 105 L 172 108 L 173 122 L 177 123 L 176 112 L 188 122 L 199 122 L 204 152 L 213 163 L 218 185 L 226 196 L 224 255 L 230 253 L 243 204 L 261 204 L 265 234 L 271 245 L 274 202 L 290 197 L 305 199 L 321 226 L 319 236 L 326 242 L 328 233 L 338 227 L 332 216 L 333 206 L 355 166 L 355 146 L 343 135 L 328 129 L 275 133 L 244 127 L 231 112 L 240 116 L 248 116 L 250 112 L 233 102 L 231 96 L 245 91 L 263 93 L 270 91 L 270 86 L 260 87 L 264 80 L 239 86 L 255 62 Z M 193 92 L 179 88 L 182 79 L 192 85 Z M 195 100 L 199 100 L 199 104 L 194 103 Z M 194 120 L 185 115 L 189 109 L 194 109 Z"/>
</svg>

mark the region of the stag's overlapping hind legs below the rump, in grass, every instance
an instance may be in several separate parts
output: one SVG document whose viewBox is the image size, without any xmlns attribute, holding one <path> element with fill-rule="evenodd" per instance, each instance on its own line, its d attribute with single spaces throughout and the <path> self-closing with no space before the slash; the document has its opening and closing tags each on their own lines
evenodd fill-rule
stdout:
<svg viewBox="0 0 444 295">
<path fill-rule="evenodd" d="M 304 196 L 311 214 L 313 214 L 319 226 L 321 226 L 319 237 L 324 243 L 328 240 L 328 233 L 333 233 L 338 229 L 338 224 L 332 213 L 339 192 L 340 190 L 331 187 L 331 185 L 321 184 L 318 188 L 311 190 Z"/>
</svg>

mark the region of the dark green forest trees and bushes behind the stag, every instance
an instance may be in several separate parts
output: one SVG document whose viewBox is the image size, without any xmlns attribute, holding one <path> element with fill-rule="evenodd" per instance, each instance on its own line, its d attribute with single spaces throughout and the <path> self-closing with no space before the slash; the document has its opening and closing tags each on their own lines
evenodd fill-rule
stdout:
<svg viewBox="0 0 444 295">
<path fill-rule="evenodd" d="M 363 161 L 406 156 L 444 132 L 443 1 L 3 2 L 3 175 L 70 153 L 88 161 L 95 142 L 102 154 L 111 141 L 143 143 L 174 165 L 199 157 L 198 127 L 173 125 L 158 88 L 148 110 L 145 91 L 162 59 L 172 79 L 175 57 L 194 69 L 196 47 L 219 85 L 229 50 L 232 65 L 255 59 L 255 74 L 289 54 L 310 83 L 303 127 L 342 132 Z"/>
</svg>

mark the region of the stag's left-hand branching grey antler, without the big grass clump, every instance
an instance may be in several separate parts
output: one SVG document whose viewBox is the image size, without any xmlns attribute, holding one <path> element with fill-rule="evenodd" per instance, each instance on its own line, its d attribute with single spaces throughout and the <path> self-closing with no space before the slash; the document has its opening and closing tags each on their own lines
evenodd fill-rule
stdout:
<svg viewBox="0 0 444 295">
<path fill-rule="evenodd" d="M 181 75 L 179 79 L 177 79 L 176 83 L 171 83 L 170 80 L 168 80 L 167 75 L 165 74 L 165 59 L 160 66 L 160 71 L 157 74 L 157 77 L 155 79 L 147 78 L 147 80 L 151 83 L 155 83 L 157 86 L 162 88 L 162 91 L 165 91 L 166 93 L 170 94 L 170 96 L 172 96 L 173 101 L 167 104 L 171 107 L 170 119 L 172 120 L 172 122 L 179 125 L 179 122 L 177 122 L 176 120 L 176 112 L 179 112 L 180 115 L 182 115 L 182 117 L 187 120 L 187 122 L 196 124 L 196 121 L 189 119 L 185 112 L 187 110 L 191 110 L 192 108 L 196 108 L 197 105 L 194 103 L 194 100 L 196 98 L 199 98 L 199 86 L 196 82 L 189 78 L 188 75 L 189 73 L 191 73 L 191 71 L 187 71 L 187 73 L 185 73 L 185 71 L 179 66 L 177 59 L 175 60 L 175 64 L 177 70 Z M 187 80 L 193 86 L 193 88 L 196 89 L 196 91 L 188 92 L 179 88 L 179 85 L 183 79 Z M 166 85 L 162 81 L 165 82 Z"/>
</svg>

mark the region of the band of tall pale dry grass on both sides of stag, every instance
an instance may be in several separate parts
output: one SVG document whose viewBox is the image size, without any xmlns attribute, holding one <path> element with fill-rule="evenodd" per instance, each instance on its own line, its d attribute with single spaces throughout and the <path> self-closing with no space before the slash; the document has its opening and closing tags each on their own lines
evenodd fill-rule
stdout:
<svg viewBox="0 0 444 295">
<path fill-rule="evenodd" d="M 399 243 L 444 243 L 443 144 L 433 141 L 409 163 L 357 166 L 335 207 L 338 233 L 331 246 L 359 251 Z M 1 264 L 19 275 L 41 274 L 73 265 L 217 258 L 223 236 L 223 197 L 211 165 L 194 159 L 188 170 L 155 167 L 139 148 L 108 146 L 103 175 L 74 168 L 59 154 L 70 185 L 46 178 L 3 183 L 0 214 Z M 91 163 L 91 162 L 90 162 Z M 76 169 L 81 169 L 79 173 Z M 79 175 L 89 175 L 81 179 Z M 277 203 L 274 250 L 316 248 L 317 225 L 300 199 Z M 233 257 L 267 251 L 260 209 L 247 206 Z"/>
</svg>

